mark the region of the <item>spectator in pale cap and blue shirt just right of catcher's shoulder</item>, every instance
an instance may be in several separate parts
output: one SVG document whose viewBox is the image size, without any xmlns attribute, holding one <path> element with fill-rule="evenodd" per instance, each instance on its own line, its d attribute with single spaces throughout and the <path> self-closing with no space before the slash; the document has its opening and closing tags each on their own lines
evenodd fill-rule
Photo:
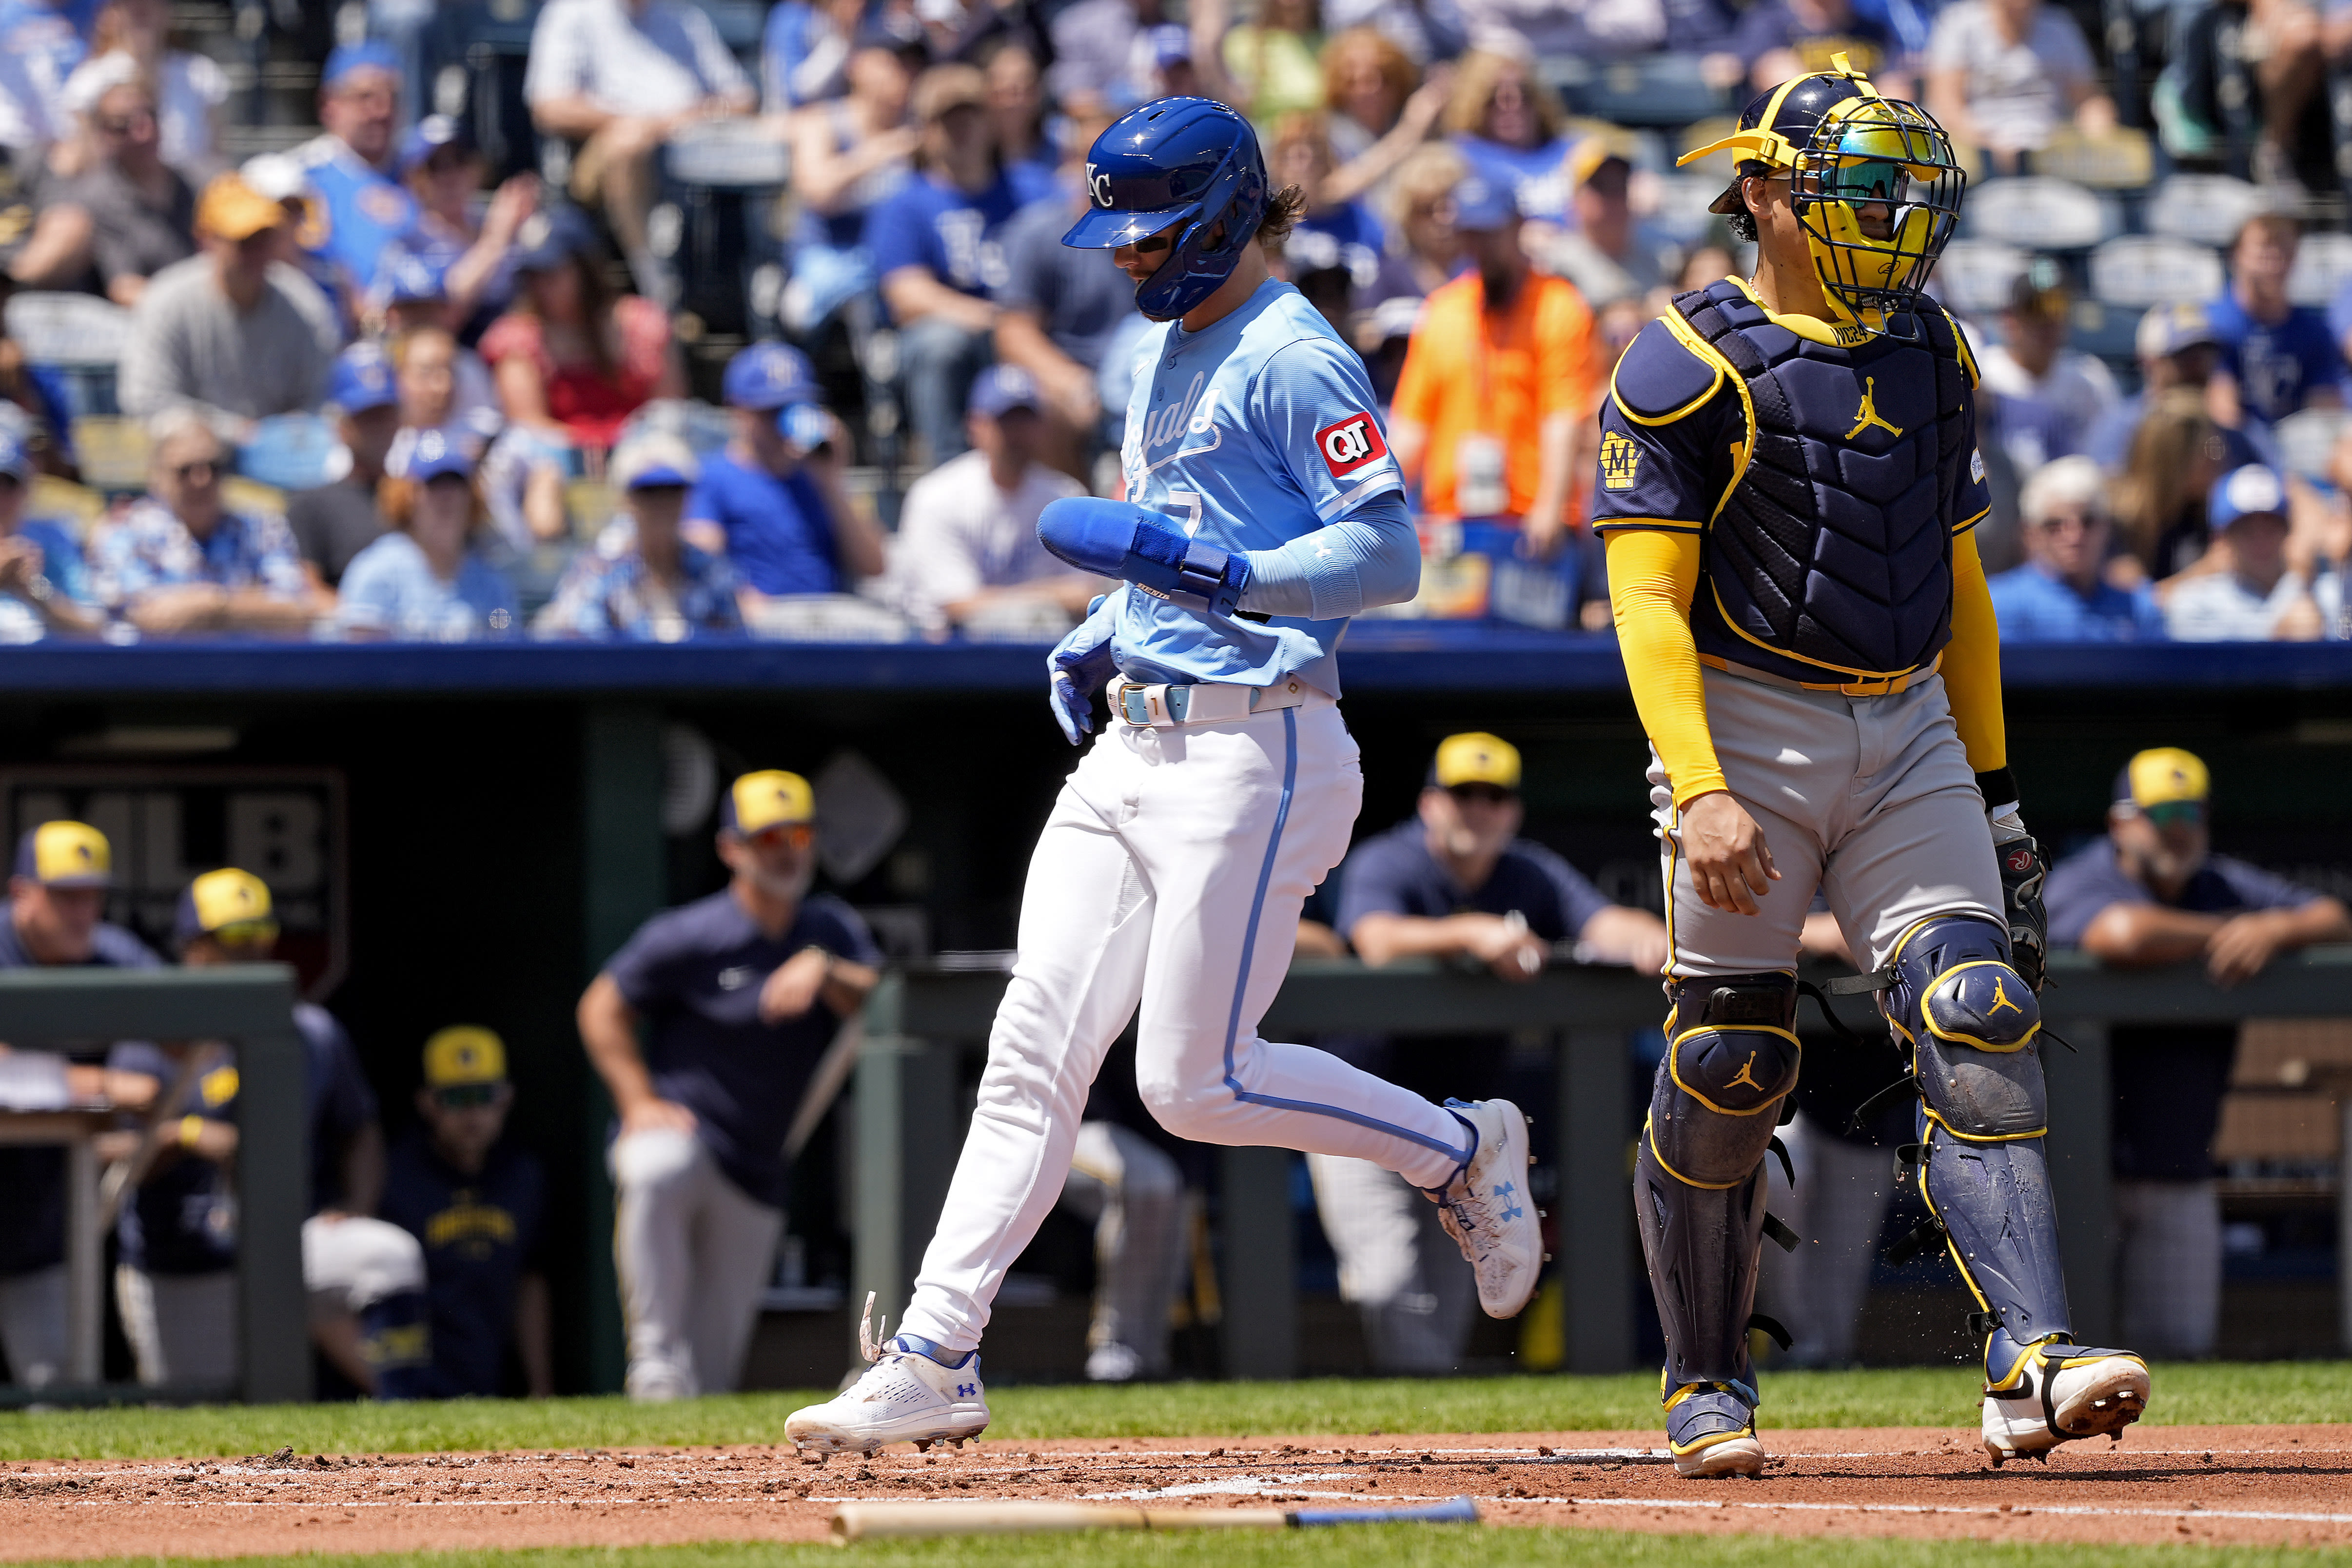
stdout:
<svg viewBox="0 0 2352 1568">
<path fill-rule="evenodd" d="M 2018 498 L 2025 564 L 1992 578 L 2002 642 L 2161 639 L 2164 611 L 2143 583 L 2133 592 L 2100 576 L 2107 562 L 2105 477 L 2091 458 L 2044 463 Z"/>
</svg>

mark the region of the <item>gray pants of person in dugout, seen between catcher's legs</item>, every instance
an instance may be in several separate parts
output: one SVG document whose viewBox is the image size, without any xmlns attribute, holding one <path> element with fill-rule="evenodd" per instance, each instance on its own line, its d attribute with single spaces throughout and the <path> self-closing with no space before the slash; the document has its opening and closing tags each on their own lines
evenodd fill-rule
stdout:
<svg viewBox="0 0 2352 1568">
<path fill-rule="evenodd" d="M 1757 1295 L 1795 1338 L 1790 1366 L 1851 1366 L 1853 1324 L 1870 1295 L 1870 1260 L 1893 1197 L 1896 1159 L 1832 1138 L 1802 1114 L 1780 1128 L 1780 1143 L 1797 1168 L 1797 1187 L 1792 1192 L 1780 1175 L 1780 1161 L 1766 1159 L 1771 1211 L 1802 1239 L 1795 1253 L 1764 1248 Z"/>
</svg>

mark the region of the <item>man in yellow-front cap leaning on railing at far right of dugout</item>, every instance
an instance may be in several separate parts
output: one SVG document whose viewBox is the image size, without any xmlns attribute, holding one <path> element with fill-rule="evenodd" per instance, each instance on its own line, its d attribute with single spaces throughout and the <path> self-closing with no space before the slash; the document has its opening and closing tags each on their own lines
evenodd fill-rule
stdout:
<svg viewBox="0 0 2352 1568">
<path fill-rule="evenodd" d="M 2114 776 L 2107 837 L 2051 867 L 2051 940 L 2103 964 L 2201 961 L 2218 985 L 2281 952 L 2352 940 L 2340 900 L 2213 853 L 2213 778 L 2178 745 Z M 2124 1333 L 2159 1356 L 2209 1356 L 2220 1328 L 2213 1131 L 2237 1025 L 2131 1025 L 2114 1060 L 2114 1211 Z"/>
</svg>

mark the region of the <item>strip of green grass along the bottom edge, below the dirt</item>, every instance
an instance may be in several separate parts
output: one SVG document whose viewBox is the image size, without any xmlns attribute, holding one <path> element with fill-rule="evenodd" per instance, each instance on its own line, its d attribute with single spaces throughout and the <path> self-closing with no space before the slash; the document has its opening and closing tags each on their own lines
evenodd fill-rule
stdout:
<svg viewBox="0 0 2352 1568">
<path fill-rule="evenodd" d="M 1216 1535 L 981 1535 L 835 1547 L 706 1544 L 548 1552 L 402 1552 L 303 1556 L 301 1568 L 2345 1568 L 2352 1552 L 2293 1547 L 2084 1547 L 1872 1537 L 1644 1535 L 1635 1530 L 1479 1530 L 1475 1526 L 1359 1526 L 1348 1530 L 1218 1530 Z M 106 1559 L 134 1568 L 186 1559 Z M 221 1559 L 285 1568 L 287 1559 Z"/>
</svg>

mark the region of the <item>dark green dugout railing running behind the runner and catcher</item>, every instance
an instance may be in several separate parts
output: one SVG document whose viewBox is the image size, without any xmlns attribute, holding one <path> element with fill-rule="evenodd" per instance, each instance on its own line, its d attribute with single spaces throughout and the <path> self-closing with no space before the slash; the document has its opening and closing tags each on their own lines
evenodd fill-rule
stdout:
<svg viewBox="0 0 2352 1568">
<path fill-rule="evenodd" d="M 1825 976 L 1813 976 L 1825 978 Z M 866 1004 L 866 1046 L 856 1067 L 856 1215 L 851 1316 L 866 1293 L 898 1312 L 948 1192 L 969 1107 L 960 1103 L 962 1058 L 988 1039 L 1002 971 L 901 964 Z M 1865 1023 L 1856 997 L 1837 999 L 1849 1023 Z M 2051 1098 L 2051 1182 L 2074 1331 L 2107 1342 L 2114 1326 L 2114 1194 L 2110 1180 L 2107 1030 L 2140 1023 L 2237 1023 L 2246 1018 L 2352 1016 L 2352 947 L 2314 947 L 2274 961 L 2258 978 L 2223 990 L 2204 969 L 2103 969 L 2079 952 L 2051 957 L 2042 994 L 2049 1025 L 2072 1046 L 2044 1046 Z M 1291 966 L 1265 1016 L 1268 1039 L 1315 1034 L 1548 1032 L 1562 1053 L 1559 1187 L 1552 1199 L 1552 1269 L 1564 1286 L 1566 1366 L 1616 1373 L 1635 1363 L 1635 1274 L 1628 1107 L 1637 1072 L 1630 1030 L 1663 1016 L 1658 980 L 1628 969 L 1559 966 L 1524 985 L 1486 973 L 1409 959 L 1369 969 L 1352 959 Z M 1811 1004 L 1802 1020 L 1811 1027 Z M 1893 1053 L 1889 1051 L 1889 1060 Z M 1232 1378 L 1291 1378 L 1298 1371 L 1296 1237 L 1289 1152 L 1221 1150 L 1223 1371 Z M 1889 1152 L 1889 1159 L 1893 1154 Z M 1247 1201 L 1258 1194 L 1261 1201 Z M 2347 1215 L 2338 1185 L 2338 1213 Z M 2340 1218 L 2338 1293 L 2352 1347 L 2352 1215 Z M 1952 1309 L 1964 1300 L 1955 1291 Z"/>
</svg>

